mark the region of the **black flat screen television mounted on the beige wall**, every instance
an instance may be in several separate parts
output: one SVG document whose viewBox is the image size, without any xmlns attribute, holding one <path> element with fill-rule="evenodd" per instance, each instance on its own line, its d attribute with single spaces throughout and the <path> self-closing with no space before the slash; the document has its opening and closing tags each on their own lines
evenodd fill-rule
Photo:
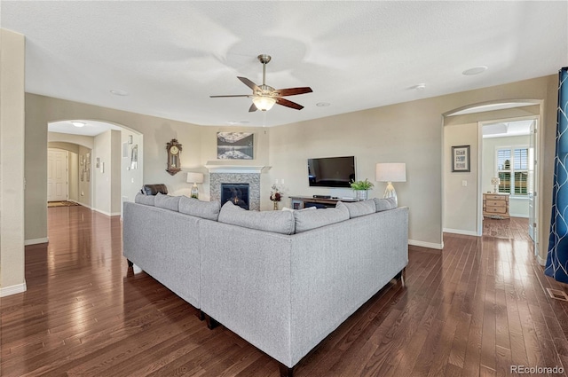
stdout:
<svg viewBox="0 0 568 377">
<path fill-rule="evenodd" d="M 354 179 L 354 156 L 308 159 L 308 181 L 312 187 L 351 187 Z"/>
</svg>

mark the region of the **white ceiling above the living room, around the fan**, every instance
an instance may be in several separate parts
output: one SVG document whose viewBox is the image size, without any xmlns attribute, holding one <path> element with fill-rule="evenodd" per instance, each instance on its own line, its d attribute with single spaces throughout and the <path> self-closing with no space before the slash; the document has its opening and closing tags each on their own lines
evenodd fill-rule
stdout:
<svg viewBox="0 0 568 377">
<path fill-rule="evenodd" d="M 28 92 L 200 125 L 287 124 L 568 64 L 565 1 L 2 0 L 0 21 L 27 37 Z M 209 98 L 249 94 L 238 75 L 262 83 L 260 53 L 272 55 L 268 85 L 312 87 L 288 97 L 303 110 L 248 113 L 249 98 Z M 462 75 L 477 66 L 488 69 Z"/>
</svg>

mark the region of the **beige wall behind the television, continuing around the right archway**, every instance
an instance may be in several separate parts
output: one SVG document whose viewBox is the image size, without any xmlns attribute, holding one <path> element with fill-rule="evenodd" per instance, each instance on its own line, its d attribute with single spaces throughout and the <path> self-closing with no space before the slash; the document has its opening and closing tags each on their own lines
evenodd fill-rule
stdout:
<svg viewBox="0 0 568 377">
<path fill-rule="evenodd" d="M 288 194 L 334 194 L 331 190 L 313 189 L 308 186 L 305 172 L 306 159 L 329 155 L 355 155 L 357 174 L 360 178 L 375 178 L 376 162 L 406 162 L 406 183 L 395 184 L 400 205 L 410 208 L 409 238 L 416 245 L 440 247 L 442 245 L 442 215 L 446 207 L 454 208 L 449 196 L 463 200 L 461 179 L 442 184 L 443 174 L 449 169 L 445 153 L 451 153 L 443 140 L 443 114 L 477 104 L 534 99 L 543 106 L 529 106 L 523 110 L 510 110 L 509 115 L 526 116 L 541 113 L 541 142 L 554 145 L 556 131 L 557 76 L 550 75 L 524 82 L 513 82 L 480 90 L 469 90 L 436 98 L 426 98 L 405 104 L 383 106 L 351 114 L 342 114 L 309 122 L 293 123 L 270 130 L 269 177 L 265 180 L 285 179 Z M 503 113 L 504 114 L 504 113 Z M 465 121 L 467 119 L 467 122 Z M 446 125 L 476 123 L 497 119 L 495 114 L 470 114 L 446 118 Z M 477 145 L 477 132 L 465 130 L 460 145 Z M 550 144 L 552 143 L 552 144 Z M 544 145 L 543 144 L 543 145 Z M 472 154 L 477 156 L 477 151 Z M 553 174 L 552 148 L 540 148 L 543 161 L 540 174 L 540 240 L 544 240 L 549 218 Z M 444 169 L 444 171 L 442 171 Z M 468 177 L 474 188 L 477 174 Z M 477 190 L 468 200 L 477 201 Z M 270 187 L 264 185 L 262 197 L 267 197 Z M 383 184 L 376 184 L 371 196 L 380 197 Z M 337 196 L 341 196 L 340 192 Z M 443 204 L 444 203 L 444 204 Z M 264 201 L 267 209 L 270 202 Z M 471 211 L 473 207 L 469 208 Z M 464 214 L 465 215 L 465 214 Z M 473 216 L 476 213 L 467 214 Z M 469 220 L 468 220 L 469 221 Z M 449 225 L 449 224 L 448 224 Z M 460 225 L 461 226 L 461 225 Z M 449 226 L 448 226 L 449 227 Z M 469 229 L 470 224 L 466 227 Z M 548 236 L 546 236 L 548 238 Z M 542 248 L 540 248 L 542 253 Z M 545 252 L 546 253 L 546 252 Z"/>
</svg>

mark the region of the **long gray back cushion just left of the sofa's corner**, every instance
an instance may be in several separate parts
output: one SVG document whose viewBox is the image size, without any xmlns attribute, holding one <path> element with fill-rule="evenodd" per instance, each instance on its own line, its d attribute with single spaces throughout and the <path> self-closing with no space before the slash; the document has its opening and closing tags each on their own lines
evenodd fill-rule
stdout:
<svg viewBox="0 0 568 377">
<path fill-rule="evenodd" d="M 239 225 L 258 231 L 294 233 L 294 215 L 290 211 L 248 211 L 227 201 L 219 213 L 219 223 Z"/>
</svg>

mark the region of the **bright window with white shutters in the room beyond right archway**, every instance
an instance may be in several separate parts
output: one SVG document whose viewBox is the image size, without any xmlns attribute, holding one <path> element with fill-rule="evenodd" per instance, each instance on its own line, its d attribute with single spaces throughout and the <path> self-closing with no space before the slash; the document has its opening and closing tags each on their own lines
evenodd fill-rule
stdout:
<svg viewBox="0 0 568 377">
<path fill-rule="evenodd" d="M 526 195 L 528 193 L 529 149 L 525 147 L 497 149 L 497 173 L 501 180 L 499 192 Z"/>
</svg>

